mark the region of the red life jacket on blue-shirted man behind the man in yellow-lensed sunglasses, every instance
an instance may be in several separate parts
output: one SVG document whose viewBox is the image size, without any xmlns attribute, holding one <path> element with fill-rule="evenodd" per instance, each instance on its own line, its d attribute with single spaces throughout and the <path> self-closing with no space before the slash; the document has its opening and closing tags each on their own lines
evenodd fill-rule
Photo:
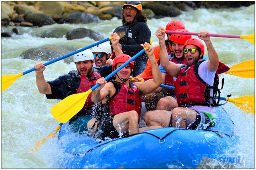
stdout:
<svg viewBox="0 0 256 170">
<path fill-rule="evenodd" d="M 171 56 L 171 58 L 170 58 L 169 61 L 174 62 L 174 63 L 176 63 L 176 64 L 179 63 L 179 62 L 177 61 L 176 57 L 174 57 L 174 55 Z M 180 63 L 181 63 L 181 64 L 186 64 L 187 62 L 186 62 L 185 58 L 183 58 L 183 60 L 182 60 Z M 169 85 L 169 86 L 174 86 L 174 85 L 175 85 L 175 80 L 174 80 L 174 78 L 173 78 L 169 73 L 167 73 L 167 72 L 166 72 L 166 74 L 165 74 L 165 84 L 166 84 L 166 85 Z M 172 90 L 172 89 L 165 89 L 165 91 L 166 91 L 166 93 L 167 93 L 168 96 L 169 96 L 169 95 L 172 95 L 172 94 L 175 94 L 174 90 Z"/>
</svg>

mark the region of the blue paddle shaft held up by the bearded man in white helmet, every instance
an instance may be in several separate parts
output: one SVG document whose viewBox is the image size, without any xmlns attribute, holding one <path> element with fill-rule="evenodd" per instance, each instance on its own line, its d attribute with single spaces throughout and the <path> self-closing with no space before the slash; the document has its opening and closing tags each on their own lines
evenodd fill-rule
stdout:
<svg viewBox="0 0 256 170">
<path fill-rule="evenodd" d="M 95 42 L 94 44 L 91 44 L 91 45 L 86 46 L 86 47 L 84 47 L 84 48 L 81 48 L 81 49 L 79 49 L 79 50 L 70 52 L 70 53 L 68 53 L 68 54 L 66 54 L 66 55 L 64 55 L 64 56 L 62 56 L 62 57 L 55 58 L 55 59 L 52 60 L 52 61 L 48 61 L 48 62 L 44 63 L 44 66 L 48 66 L 49 64 L 55 63 L 55 62 L 60 61 L 60 60 L 62 60 L 62 59 L 64 59 L 64 58 L 67 58 L 67 57 L 69 57 L 69 56 L 73 56 L 73 55 L 76 54 L 76 53 L 79 53 L 79 52 L 81 52 L 81 51 L 90 49 L 91 47 L 94 47 L 94 46 L 96 46 L 96 45 L 99 45 L 99 44 L 101 44 L 101 43 L 103 43 L 103 42 L 106 42 L 106 41 L 109 41 L 109 40 L 110 40 L 110 38 L 106 38 L 106 39 L 104 39 L 104 40 Z M 29 70 L 23 72 L 23 75 L 25 75 L 25 74 L 27 74 L 27 73 L 30 73 L 30 72 L 33 72 L 33 71 L 35 71 L 35 70 L 36 70 L 35 68 L 31 68 L 31 69 L 29 69 Z"/>
</svg>

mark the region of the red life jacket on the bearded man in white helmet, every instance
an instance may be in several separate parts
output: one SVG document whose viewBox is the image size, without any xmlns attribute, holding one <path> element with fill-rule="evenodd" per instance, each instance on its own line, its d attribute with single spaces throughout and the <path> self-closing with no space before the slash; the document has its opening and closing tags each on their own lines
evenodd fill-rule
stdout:
<svg viewBox="0 0 256 170">
<path fill-rule="evenodd" d="M 97 72 L 93 72 L 90 78 L 87 78 L 86 76 L 79 75 L 81 79 L 81 83 L 78 87 L 78 90 L 76 90 L 76 93 L 82 93 L 86 92 L 87 90 L 91 89 L 97 81 L 97 79 L 101 78 L 101 75 L 98 74 Z M 92 106 L 94 102 L 91 101 L 91 93 L 88 95 L 85 105 L 83 109 L 87 109 Z"/>
</svg>

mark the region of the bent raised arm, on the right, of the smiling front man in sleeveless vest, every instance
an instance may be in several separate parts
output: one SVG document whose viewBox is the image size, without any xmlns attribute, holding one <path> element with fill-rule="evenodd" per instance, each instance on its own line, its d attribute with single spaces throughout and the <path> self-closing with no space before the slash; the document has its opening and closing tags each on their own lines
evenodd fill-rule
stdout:
<svg viewBox="0 0 256 170">
<path fill-rule="evenodd" d="M 142 44 L 142 46 L 143 48 L 147 47 L 146 55 L 148 55 L 150 60 L 153 79 L 150 79 L 145 83 L 136 82 L 134 84 L 136 84 L 139 87 L 139 92 L 141 95 L 146 95 L 153 92 L 155 89 L 157 89 L 160 86 L 160 84 L 162 83 L 162 76 L 161 76 L 158 63 L 154 56 L 154 47 L 147 42 L 145 42 L 144 45 Z"/>
</svg>

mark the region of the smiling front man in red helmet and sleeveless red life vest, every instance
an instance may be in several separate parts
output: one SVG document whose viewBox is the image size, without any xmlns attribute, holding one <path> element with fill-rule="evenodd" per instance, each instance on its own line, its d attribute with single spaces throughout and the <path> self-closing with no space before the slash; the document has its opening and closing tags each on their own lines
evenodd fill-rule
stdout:
<svg viewBox="0 0 256 170">
<path fill-rule="evenodd" d="M 146 54 L 151 62 L 154 79 L 144 83 L 130 83 L 129 77 L 134 68 L 134 62 L 132 61 L 116 73 L 116 80 L 107 83 L 104 78 L 100 78 L 96 81 L 101 86 L 92 92 L 92 101 L 101 102 L 105 106 L 105 110 L 97 117 L 97 120 L 90 120 L 88 128 L 94 127 L 93 130 L 95 131 L 98 126 L 99 137 L 102 140 L 105 140 L 105 137 L 117 138 L 139 133 L 140 130 L 146 130 L 139 130 L 138 126 L 142 108 L 140 95 L 154 91 L 162 83 L 162 78 L 154 57 L 153 46 L 146 42 L 142 46 L 147 47 Z M 117 56 L 114 59 L 112 71 L 122 66 L 130 58 L 125 54 Z M 159 127 L 161 126 L 151 128 Z M 148 127 L 146 128 L 149 129 Z"/>
</svg>

